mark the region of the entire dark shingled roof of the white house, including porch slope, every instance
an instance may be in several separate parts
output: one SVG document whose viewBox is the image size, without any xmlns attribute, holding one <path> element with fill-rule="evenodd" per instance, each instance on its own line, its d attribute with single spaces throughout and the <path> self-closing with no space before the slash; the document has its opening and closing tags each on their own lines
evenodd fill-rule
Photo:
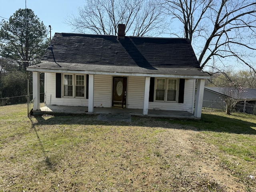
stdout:
<svg viewBox="0 0 256 192">
<path fill-rule="evenodd" d="M 58 65 L 62 70 L 207 76 L 200 71 L 190 41 L 184 38 L 117 39 L 108 35 L 56 33 L 40 68 L 57 69 Z"/>
</svg>

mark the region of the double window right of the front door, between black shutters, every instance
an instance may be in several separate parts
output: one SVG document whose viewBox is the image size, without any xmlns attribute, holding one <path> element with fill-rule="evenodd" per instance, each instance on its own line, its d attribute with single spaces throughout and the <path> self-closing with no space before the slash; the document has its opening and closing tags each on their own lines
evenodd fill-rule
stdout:
<svg viewBox="0 0 256 192">
<path fill-rule="evenodd" d="M 156 101 L 176 101 L 177 79 L 156 79 Z"/>
</svg>

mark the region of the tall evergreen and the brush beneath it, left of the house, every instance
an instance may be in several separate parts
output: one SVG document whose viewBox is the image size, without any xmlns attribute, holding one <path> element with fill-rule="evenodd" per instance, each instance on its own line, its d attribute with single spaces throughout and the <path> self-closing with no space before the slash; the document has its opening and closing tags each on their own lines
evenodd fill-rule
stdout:
<svg viewBox="0 0 256 192">
<path fill-rule="evenodd" d="M 31 76 L 26 67 L 40 61 L 49 44 L 47 35 L 46 26 L 31 9 L 19 9 L 8 21 L 0 22 L 0 98 L 23 96 L 0 99 L 0 105 L 26 102 Z"/>
</svg>

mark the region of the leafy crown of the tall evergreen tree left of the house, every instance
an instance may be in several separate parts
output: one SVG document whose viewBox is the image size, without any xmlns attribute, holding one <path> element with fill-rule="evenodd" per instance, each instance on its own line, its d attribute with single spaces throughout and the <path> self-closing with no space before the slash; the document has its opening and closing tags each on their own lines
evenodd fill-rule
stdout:
<svg viewBox="0 0 256 192">
<path fill-rule="evenodd" d="M 48 46 L 47 28 L 31 9 L 17 10 L 0 23 L 1 56 L 38 62 Z M 27 62 L 23 62 L 26 69 Z"/>
</svg>

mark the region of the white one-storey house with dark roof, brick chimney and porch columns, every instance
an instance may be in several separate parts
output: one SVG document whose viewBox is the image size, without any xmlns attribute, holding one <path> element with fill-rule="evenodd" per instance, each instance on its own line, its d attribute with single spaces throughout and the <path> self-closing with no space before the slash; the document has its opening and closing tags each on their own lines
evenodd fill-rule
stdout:
<svg viewBox="0 0 256 192">
<path fill-rule="evenodd" d="M 186 111 L 201 117 L 204 80 L 188 39 L 56 33 L 33 72 L 34 112 L 40 110 L 39 74 L 45 103 L 94 108 Z M 194 93 L 198 96 L 194 109 Z"/>
</svg>

